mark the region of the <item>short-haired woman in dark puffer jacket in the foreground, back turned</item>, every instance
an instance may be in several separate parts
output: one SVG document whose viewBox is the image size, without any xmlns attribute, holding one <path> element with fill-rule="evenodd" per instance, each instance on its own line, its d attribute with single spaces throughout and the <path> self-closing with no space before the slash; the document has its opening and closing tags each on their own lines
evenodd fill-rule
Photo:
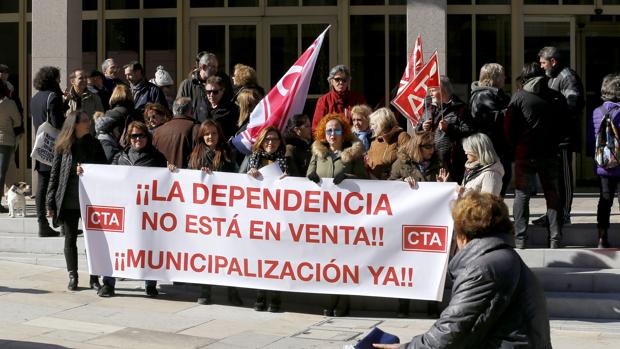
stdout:
<svg viewBox="0 0 620 349">
<path fill-rule="evenodd" d="M 459 251 L 450 261 L 452 299 L 424 334 L 375 348 L 551 348 L 542 287 L 514 248 L 499 196 L 468 192 L 453 205 Z"/>
</svg>

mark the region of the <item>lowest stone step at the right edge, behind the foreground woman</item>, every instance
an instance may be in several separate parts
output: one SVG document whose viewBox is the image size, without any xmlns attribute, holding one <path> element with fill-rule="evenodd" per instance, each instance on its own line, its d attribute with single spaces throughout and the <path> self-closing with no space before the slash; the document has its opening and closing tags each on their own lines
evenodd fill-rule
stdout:
<svg viewBox="0 0 620 349">
<path fill-rule="evenodd" d="M 620 294 L 546 292 L 547 310 L 553 318 L 620 319 Z"/>
</svg>

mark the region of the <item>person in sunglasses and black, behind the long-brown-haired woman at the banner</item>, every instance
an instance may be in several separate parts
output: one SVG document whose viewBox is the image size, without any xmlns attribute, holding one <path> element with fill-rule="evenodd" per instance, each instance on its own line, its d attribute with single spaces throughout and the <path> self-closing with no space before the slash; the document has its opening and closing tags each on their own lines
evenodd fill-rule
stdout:
<svg viewBox="0 0 620 349">
<path fill-rule="evenodd" d="M 238 129 L 239 107 L 224 98 L 226 94 L 224 80 L 219 76 L 209 77 L 205 84 L 205 94 L 207 96 L 206 108 L 200 108 L 201 112 L 197 114 L 197 121 L 215 120 L 222 127 L 225 140 L 230 139 Z"/>
</svg>

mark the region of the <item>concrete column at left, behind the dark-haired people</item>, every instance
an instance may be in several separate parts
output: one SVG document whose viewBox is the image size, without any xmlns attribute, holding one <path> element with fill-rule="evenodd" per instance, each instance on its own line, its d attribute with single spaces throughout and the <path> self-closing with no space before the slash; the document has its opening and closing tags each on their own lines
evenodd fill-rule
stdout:
<svg viewBox="0 0 620 349">
<path fill-rule="evenodd" d="M 60 69 L 62 89 L 71 71 L 82 66 L 82 1 L 32 2 L 33 76 L 46 65 Z"/>
</svg>

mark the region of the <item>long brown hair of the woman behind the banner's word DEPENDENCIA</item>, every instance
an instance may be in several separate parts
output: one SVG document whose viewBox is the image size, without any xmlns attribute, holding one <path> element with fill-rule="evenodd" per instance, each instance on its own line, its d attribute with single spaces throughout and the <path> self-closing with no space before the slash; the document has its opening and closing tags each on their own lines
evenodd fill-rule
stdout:
<svg viewBox="0 0 620 349">
<path fill-rule="evenodd" d="M 217 130 L 217 144 L 215 145 L 215 155 L 213 156 L 211 164 L 209 164 L 207 157 L 207 150 L 209 147 L 203 139 L 205 134 L 207 134 L 209 127 L 215 127 Z M 203 121 L 198 129 L 196 140 L 196 146 L 194 146 L 194 149 L 189 156 L 189 168 L 199 170 L 203 167 L 208 167 L 212 171 L 218 171 L 222 166 L 223 161 L 230 162 L 230 148 L 224 138 L 222 127 L 220 127 L 217 122 L 213 120 Z"/>
</svg>

